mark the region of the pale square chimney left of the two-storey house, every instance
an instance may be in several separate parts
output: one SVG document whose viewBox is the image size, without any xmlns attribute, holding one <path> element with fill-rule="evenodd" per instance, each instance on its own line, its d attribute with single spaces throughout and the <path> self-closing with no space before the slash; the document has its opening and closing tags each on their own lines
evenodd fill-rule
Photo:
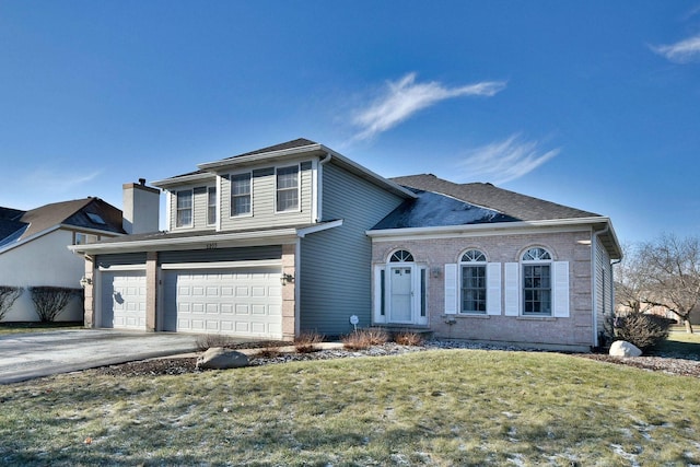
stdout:
<svg viewBox="0 0 700 467">
<path fill-rule="evenodd" d="M 121 189 L 124 231 L 128 234 L 158 232 L 161 191 L 147 186 L 145 178 L 139 178 L 138 184 L 124 184 Z"/>
</svg>

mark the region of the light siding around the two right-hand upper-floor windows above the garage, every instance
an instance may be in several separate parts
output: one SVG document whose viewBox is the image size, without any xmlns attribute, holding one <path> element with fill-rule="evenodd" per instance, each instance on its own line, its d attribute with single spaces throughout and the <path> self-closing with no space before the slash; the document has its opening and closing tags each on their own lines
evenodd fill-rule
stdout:
<svg viewBox="0 0 700 467">
<path fill-rule="evenodd" d="M 308 159 L 290 159 L 279 167 L 294 165 L 300 162 L 308 161 Z M 311 164 L 301 165 L 300 170 L 300 211 L 295 212 L 275 212 L 276 183 L 275 167 L 260 166 L 250 168 L 253 176 L 253 215 L 231 217 L 231 182 L 228 175 L 221 179 L 221 194 L 219 201 L 221 202 L 221 230 L 240 230 L 240 229 L 260 229 L 270 226 L 285 226 L 307 224 L 314 221 L 312 219 L 312 170 Z M 247 171 L 247 172 L 250 172 Z M 246 171 L 232 172 L 231 174 L 240 174 Z"/>
</svg>

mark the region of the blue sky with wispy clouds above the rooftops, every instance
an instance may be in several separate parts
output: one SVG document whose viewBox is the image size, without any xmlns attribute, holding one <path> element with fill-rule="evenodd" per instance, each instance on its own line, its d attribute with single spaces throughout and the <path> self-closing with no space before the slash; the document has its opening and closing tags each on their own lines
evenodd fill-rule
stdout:
<svg viewBox="0 0 700 467">
<path fill-rule="evenodd" d="M 0 0 L 0 206 L 300 137 L 698 235 L 700 0 Z"/>
</svg>

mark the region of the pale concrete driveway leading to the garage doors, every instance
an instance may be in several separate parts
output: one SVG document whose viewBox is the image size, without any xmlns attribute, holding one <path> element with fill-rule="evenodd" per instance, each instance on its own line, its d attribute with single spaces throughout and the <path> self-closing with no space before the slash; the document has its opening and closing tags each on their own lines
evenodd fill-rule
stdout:
<svg viewBox="0 0 700 467">
<path fill-rule="evenodd" d="M 175 332 L 70 329 L 0 336 L 0 384 L 197 350 Z"/>
</svg>

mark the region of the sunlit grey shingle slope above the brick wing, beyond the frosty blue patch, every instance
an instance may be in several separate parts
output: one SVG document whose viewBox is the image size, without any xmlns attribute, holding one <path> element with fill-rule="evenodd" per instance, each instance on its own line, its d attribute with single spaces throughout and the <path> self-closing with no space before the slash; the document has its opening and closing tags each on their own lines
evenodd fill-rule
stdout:
<svg viewBox="0 0 700 467">
<path fill-rule="evenodd" d="M 488 208 L 518 221 L 595 218 L 593 212 L 570 208 L 495 187 L 491 184 L 455 184 L 432 174 L 392 178 L 393 182 L 424 191 L 447 195 L 462 201 Z M 495 222 L 492 221 L 492 222 Z"/>
</svg>

